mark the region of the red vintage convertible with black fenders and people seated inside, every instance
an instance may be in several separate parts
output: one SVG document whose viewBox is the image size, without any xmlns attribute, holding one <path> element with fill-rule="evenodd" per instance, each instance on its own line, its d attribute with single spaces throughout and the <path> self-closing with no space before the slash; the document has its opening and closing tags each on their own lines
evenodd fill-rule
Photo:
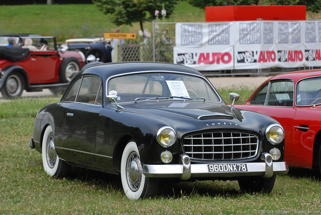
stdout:
<svg viewBox="0 0 321 215">
<path fill-rule="evenodd" d="M 54 93 L 61 88 L 64 90 L 84 65 L 82 52 L 58 49 L 55 37 L 18 37 L 19 41 L 26 39 L 34 41 L 31 47 L 35 50 L 0 46 L 2 96 L 7 99 L 19 97 L 24 89 L 35 92 L 49 88 Z"/>
</svg>

